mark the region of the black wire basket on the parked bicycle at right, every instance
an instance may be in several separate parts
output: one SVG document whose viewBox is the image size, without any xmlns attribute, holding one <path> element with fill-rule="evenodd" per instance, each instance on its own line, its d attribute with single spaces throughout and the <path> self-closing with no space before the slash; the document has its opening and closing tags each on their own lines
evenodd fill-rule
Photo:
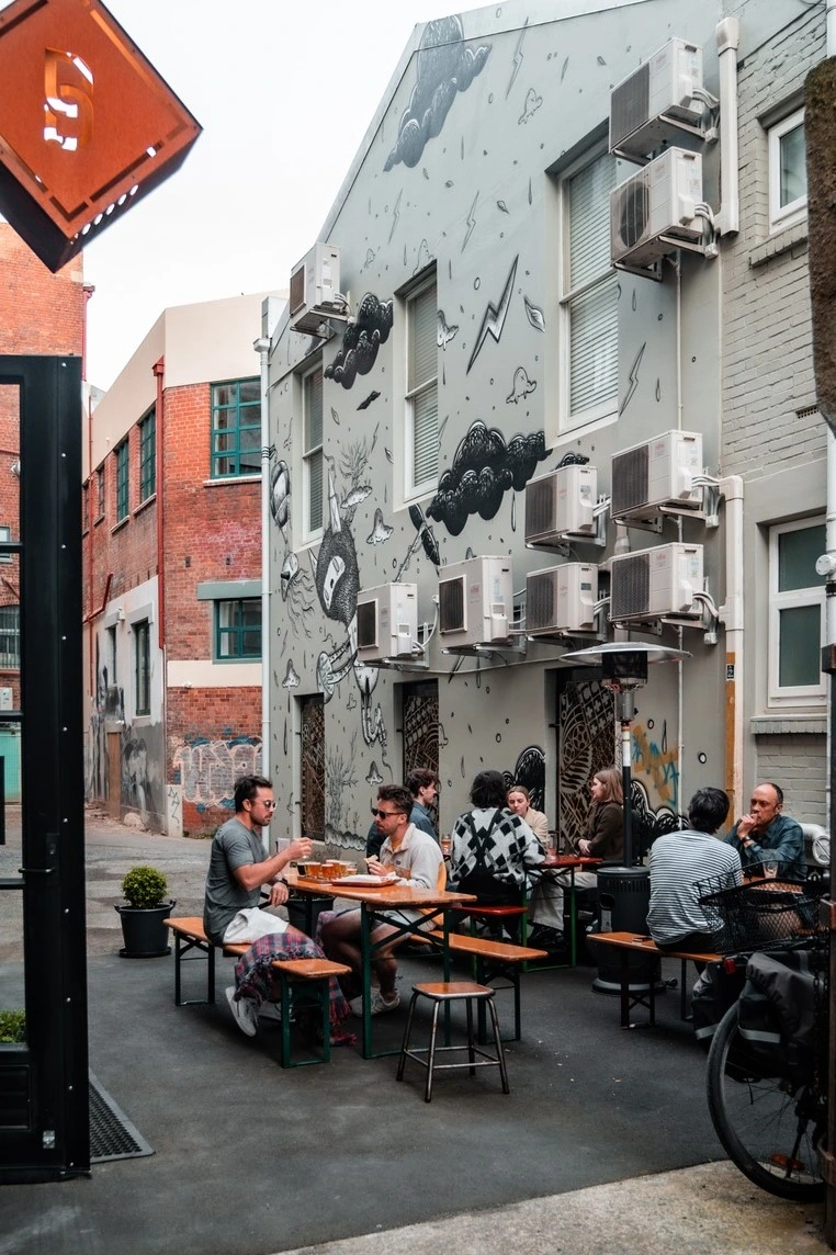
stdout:
<svg viewBox="0 0 836 1255">
<path fill-rule="evenodd" d="M 717 877 L 699 881 L 698 889 L 718 954 L 764 950 L 811 937 L 816 930 L 817 901 L 797 881 L 729 886 L 728 878 Z"/>
</svg>

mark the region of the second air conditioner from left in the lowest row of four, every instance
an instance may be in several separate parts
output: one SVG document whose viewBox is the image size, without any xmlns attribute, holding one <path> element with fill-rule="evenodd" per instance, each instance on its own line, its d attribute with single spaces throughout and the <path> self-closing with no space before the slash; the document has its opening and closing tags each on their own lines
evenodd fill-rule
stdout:
<svg viewBox="0 0 836 1255">
<path fill-rule="evenodd" d="M 438 630 L 448 646 L 507 643 L 512 619 L 510 558 L 472 557 L 443 567 Z"/>
</svg>

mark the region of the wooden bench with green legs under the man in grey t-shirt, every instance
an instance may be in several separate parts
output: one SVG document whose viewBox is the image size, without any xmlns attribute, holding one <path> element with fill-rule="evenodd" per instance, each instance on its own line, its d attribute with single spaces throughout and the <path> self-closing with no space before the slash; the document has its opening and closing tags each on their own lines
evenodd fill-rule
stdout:
<svg viewBox="0 0 836 1255">
<path fill-rule="evenodd" d="M 252 945 L 251 941 L 240 941 L 223 946 L 215 946 L 206 936 L 203 921 L 200 916 L 183 916 L 182 919 L 168 919 L 166 924 L 174 935 L 174 1004 L 177 1007 L 206 1005 L 215 1003 L 215 950 L 221 949 L 227 958 L 240 958 Z M 192 954 L 191 951 L 196 951 Z M 182 961 L 190 961 L 198 955 L 207 959 L 207 988 L 206 998 L 185 1001 L 181 996 L 181 969 Z M 281 1050 L 279 1062 L 282 1068 L 297 1068 L 309 1063 L 328 1063 L 331 1055 L 330 1033 L 330 998 L 328 983 L 331 976 L 346 976 L 350 968 L 344 963 L 331 963 L 330 959 L 274 959 L 272 970 L 279 978 L 280 1008 L 281 1008 Z M 321 1052 L 308 1058 L 291 1062 L 290 1030 L 291 1030 L 291 995 L 294 986 L 303 986 L 303 1000 L 313 1003 L 323 1017 L 323 1043 Z M 296 1003 L 299 1005 L 299 1001 Z"/>
</svg>

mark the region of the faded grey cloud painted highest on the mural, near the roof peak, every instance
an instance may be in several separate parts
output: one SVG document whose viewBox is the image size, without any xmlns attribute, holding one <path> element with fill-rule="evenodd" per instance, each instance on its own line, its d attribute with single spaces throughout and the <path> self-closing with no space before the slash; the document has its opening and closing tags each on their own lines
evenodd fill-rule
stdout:
<svg viewBox="0 0 836 1255">
<path fill-rule="evenodd" d="M 456 93 L 467 92 L 490 51 L 490 44 L 482 44 L 476 50 L 464 44 L 462 19 L 457 14 L 427 23 L 415 55 L 415 85 L 400 117 L 398 142 L 387 157 L 384 171 L 398 162 L 410 169 L 418 164 L 427 142 L 441 133 Z"/>
</svg>

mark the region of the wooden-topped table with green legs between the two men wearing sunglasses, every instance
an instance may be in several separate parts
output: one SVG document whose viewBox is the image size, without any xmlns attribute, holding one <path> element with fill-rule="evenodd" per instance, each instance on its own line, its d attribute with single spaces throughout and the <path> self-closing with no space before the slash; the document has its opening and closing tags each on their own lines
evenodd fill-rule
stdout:
<svg viewBox="0 0 836 1255">
<path fill-rule="evenodd" d="M 282 872 L 284 878 L 291 891 L 304 897 L 323 897 L 333 895 L 349 902 L 356 902 L 360 909 L 360 951 L 363 954 L 363 1058 L 373 1059 L 383 1054 L 398 1054 L 398 1050 L 374 1052 L 372 1043 L 372 959 L 377 950 L 384 945 L 397 945 L 399 940 L 410 935 L 421 934 L 431 946 L 441 950 L 444 965 L 444 980 L 449 980 L 449 909 L 461 906 L 463 902 L 474 902 L 473 894 L 448 892 L 447 890 L 410 889 L 405 885 L 379 884 L 379 885 L 344 885 L 336 880 L 320 880 L 313 876 L 300 876 L 297 871 L 289 868 Z M 418 920 L 403 920 L 395 922 L 387 917 L 384 912 L 393 912 L 398 907 L 415 911 L 426 910 Z M 434 907 L 434 910 L 433 910 Z M 422 931 L 422 925 L 433 920 L 433 927 L 441 929 L 443 940 L 433 939 Z M 374 943 L 372 930 L 377 922 L 394 926 L 397 932 L 385 937 L 384 941 Z"/>
</svg>

